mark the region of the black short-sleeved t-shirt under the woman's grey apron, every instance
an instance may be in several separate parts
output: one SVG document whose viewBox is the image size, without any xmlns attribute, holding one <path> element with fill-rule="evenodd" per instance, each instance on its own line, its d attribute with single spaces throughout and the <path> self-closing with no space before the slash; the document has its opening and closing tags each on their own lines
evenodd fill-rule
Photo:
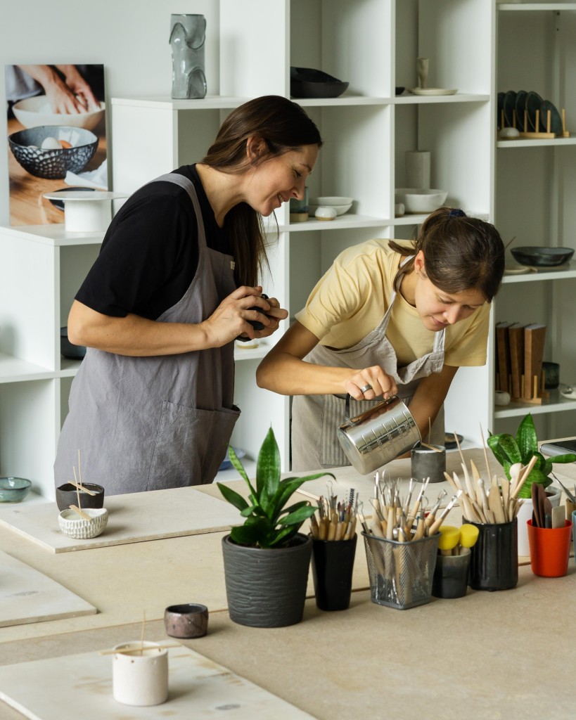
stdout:
<svg viewBox="0 0 576 720">
<path fill-rule="evenodd" d="M 196 166 L 174 172 L 194 184 L 207 246 L 232 254 Z M 132 312 L 156 320 L 183 297 L 197 266 L 198 226 L 192 200 L 179 185 L 153 182 L 132 194 L 114 216 L 76 300 L 103 315 L 124 318 Z"/>
</svg>

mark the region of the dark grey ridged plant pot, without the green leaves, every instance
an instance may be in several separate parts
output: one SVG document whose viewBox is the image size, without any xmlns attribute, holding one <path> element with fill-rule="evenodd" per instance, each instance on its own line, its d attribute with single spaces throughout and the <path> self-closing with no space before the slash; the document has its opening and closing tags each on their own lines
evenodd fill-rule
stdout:
<svg viewBox="0 0 576 720">
<path fill-rule="evenodd" d="M 297 544 L 262 549 L 222 538 L 230 620 L 257 628 L 278 628 L 302 620 L 312 538 L 298 533 Z"/>
</svg>

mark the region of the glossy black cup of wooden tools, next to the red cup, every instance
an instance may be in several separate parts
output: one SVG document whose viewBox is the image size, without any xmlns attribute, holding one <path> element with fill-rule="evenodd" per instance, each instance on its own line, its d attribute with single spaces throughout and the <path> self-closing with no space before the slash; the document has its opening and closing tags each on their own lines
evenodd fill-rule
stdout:
<svg viewBox="0 0 576 720">
<path fill-rule="evenodd" d="M 468 520 L 463 520 L 467 523 Z M 473 590 L 510 590 L 518 585 L 518 522 L 472 523 L 479 530 L 472 547 L 468 584 Z"/>
</svg>

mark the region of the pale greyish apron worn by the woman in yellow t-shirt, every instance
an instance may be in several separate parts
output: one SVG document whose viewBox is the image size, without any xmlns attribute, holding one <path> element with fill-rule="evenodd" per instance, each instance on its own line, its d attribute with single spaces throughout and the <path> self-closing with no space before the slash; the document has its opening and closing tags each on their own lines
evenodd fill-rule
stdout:
<svg viewBox="0 0 576 720">
<path fill-rule="evenodd" d="M 407 258 L 407 262 L 410 258 Z M 398 396 L 410 405 L 420 379 L 440 372 L 444 365 L 444 330 L 434 336 L 433 351 L 398 368 L 396 353 L 386 337 L 386 330 L 396 299 L 397 287 L 392 292 L 390 307 L 372 333 L 351 348 L 336 350 L 318 344 L 304 358 L 306 362 L 332 367 L 361 368 L 379 365 L 395 379 Z M 379 400 L 351 398 L 350 415 L 355 417 Z M 292 469 L 295 471 L 349 465 L 336 431 L 344 422 L 346 396 L 295 395 L 292 400 Z M 444 406 L 440 408 L 432 425 L 430 441 L 444 445 Z"/>
</svg>

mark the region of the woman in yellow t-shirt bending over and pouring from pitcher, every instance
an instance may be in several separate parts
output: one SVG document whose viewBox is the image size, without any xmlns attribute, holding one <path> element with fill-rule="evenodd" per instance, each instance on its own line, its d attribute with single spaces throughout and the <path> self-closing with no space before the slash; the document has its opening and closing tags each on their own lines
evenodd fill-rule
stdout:
<svg viewBox="0 0 576 720">
<path fill-rule="evenodd" d="M 444 444 L 443 403 L 459 366 L 483 365 L 490 302 L 504 272 L 493 225 L 442 207 L 411 240 L 343 251 L 261 362 L 260 387 L 294 395 L 292 469 L 349 464 L 337 439 L 351 416 L 399 395 L 422 436 Z"/>
</svg>

